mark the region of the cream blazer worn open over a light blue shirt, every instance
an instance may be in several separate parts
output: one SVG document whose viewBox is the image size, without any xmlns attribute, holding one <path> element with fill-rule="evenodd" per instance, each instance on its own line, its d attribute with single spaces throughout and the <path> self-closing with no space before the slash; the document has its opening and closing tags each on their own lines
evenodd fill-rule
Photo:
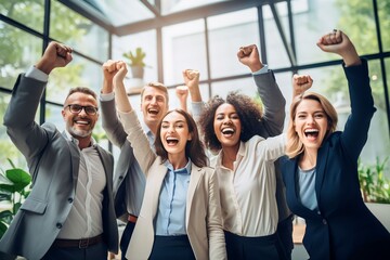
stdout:
<svg viewBox="0 0 390 260">
<path fill-rule="evenodd" d="M 145 195 L 134 233 L 127 249 L 128 259 L 147 259 L 154 243 L 154 218 L 167 167 L 150 147 L 135 112 L 120 113 L 136 160 L 146 174 Z M 218 178 L 213 169 L 192 164 L 186 194 L 185 227 L 196 259 L 226 259 L 222 230 Z"/>
</svg>

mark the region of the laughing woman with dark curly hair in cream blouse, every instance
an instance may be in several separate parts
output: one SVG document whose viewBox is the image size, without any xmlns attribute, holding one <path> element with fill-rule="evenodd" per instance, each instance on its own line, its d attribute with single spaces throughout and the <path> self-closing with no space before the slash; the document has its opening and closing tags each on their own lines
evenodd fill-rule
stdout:
<svg viewBox="0 0 390 260">
<path fill-rule="evenodd" d="M 199 123 L 220 197 L 229 259 L 285 259 L 276 237 L 278 222 L 274 161 L 285 153 L 285 134 L 266 140 L 263 115 L 249 96 L 214 96 Z"/>
</svg>

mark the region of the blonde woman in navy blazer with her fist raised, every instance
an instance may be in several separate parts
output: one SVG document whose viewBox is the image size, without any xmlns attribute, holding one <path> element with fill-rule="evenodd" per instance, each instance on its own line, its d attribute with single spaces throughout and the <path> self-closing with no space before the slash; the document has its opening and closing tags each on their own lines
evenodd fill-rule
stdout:
<svg viewBox="0 0 390 260">
<path fill-rule="evenodd" d="M 367 62 L 347 35 L 334 30 L 317 46 L 343 60 L 351 99 L 344 130 L 324 96 L 304 92 L 290 109 L 289 157 L 283 167 L 287 203 L 306 219 L 303 245 L 310 259 L 390 259 L 390 235 L 366 208 L 360 193 L 358 158 L 376 110 Z"/>
</svg>

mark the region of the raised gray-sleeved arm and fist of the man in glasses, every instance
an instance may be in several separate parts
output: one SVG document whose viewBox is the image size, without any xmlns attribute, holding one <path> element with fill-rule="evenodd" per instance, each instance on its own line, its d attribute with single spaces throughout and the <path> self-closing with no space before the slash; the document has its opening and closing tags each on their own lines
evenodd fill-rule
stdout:
<svg viewBox="0 0 390 260">
<path fill-rule="evenodd" d="M 12 142 L 27 159 L 34 157 L 48 142 L 48 132 L 35 121 L 49 74 L 72 62 L 72 48 L 52 41 L 35 67 L 20 75 L 4 114 L 4 126 Z"/>
</svg>

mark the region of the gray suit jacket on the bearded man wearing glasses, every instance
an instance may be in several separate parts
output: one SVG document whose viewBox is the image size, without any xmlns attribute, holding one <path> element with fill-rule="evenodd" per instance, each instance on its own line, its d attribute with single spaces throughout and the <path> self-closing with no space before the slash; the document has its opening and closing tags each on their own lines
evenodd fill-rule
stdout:
<svg viewBox="0 0 390 260">
<path fill-rule="evenodd" d="M 46 82 L 21 75 L 4 115 L 13 143 L 26 157 L 32 190 L 0 240 L 0 251 L 40 259 L 56 238 L 73 206 L 79 151 L 52 123 L 39 126 L 35 115 Z M 113 198 L 113 156 L 98 146 L 106 174 L 103 230 L 108 250 L 118 252 L 118 229 Z"/>
</svg>

